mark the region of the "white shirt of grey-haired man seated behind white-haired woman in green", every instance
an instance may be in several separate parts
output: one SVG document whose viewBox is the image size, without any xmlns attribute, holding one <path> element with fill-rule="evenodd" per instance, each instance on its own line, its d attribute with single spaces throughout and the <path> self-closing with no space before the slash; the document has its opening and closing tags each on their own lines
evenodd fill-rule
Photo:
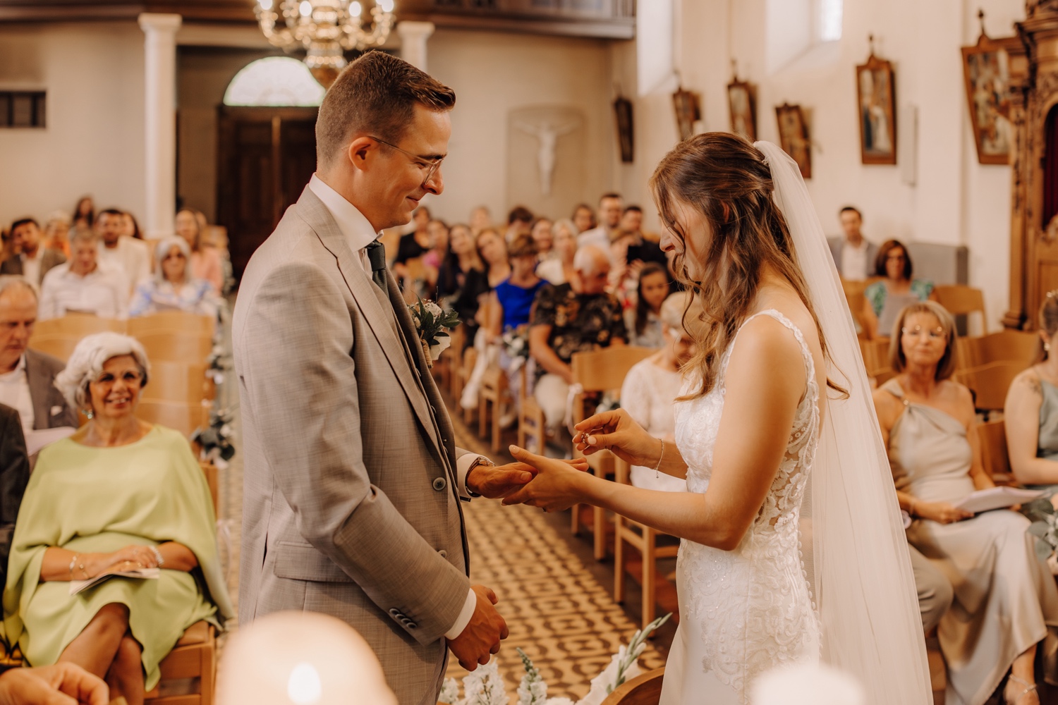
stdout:
<svg viewBox="0 0 1058 705">
<path fill-rule="evenodd" d="M 67 312 L 91 313 L 101 318 L 128 318 L 129 286 L 125 274 L 96 264 L 84 277 L 65 262 L 44 275 L 40 285 L 40 320 L 60 318 Z"/>
</svg>

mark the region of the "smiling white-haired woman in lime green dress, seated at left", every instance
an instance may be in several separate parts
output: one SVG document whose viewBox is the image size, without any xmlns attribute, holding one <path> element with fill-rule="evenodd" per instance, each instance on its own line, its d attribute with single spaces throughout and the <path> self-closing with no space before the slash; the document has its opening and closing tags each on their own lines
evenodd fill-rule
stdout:
<svg viewBox="0 0 1058 705">
<path fill-rule="evenodd" d="M 88 423 L 40 451 L 15 525 L 4 627 L 33 666 L 71 662 L 140 705 L 184 631 L 233 615 L 209 488 L 177 431 L 135 416 L 143 347 L 83 339 L 55 385 Z M 157 577 L 122 573 L 161 569 Z M 71 594 L 71 581 L 117 574 Z"/>
</svg>

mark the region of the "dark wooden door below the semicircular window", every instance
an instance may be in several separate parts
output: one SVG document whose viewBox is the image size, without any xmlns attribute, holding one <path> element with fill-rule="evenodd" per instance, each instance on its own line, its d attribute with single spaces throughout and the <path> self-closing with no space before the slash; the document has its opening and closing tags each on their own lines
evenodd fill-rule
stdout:
<svg viewBox="0 0 1058 705">
<path fill-rule="evenodd" d="M 309 183 L 315 123 L 315 108 L 220 108 L 217 221 L 236 277 Z"/>
</svg>

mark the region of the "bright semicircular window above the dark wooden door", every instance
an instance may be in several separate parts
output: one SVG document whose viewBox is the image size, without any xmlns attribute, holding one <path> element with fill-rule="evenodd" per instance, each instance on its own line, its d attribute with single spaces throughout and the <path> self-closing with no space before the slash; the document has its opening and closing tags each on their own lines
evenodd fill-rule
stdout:
<svg viewBox="0 0 1058 705">
<path fill-rule="evenodd" d="M 225 106 L 318 106 L 327 91 L 303 62 L 270 56 L 244 66 L 224 91 Z"/>
</svg>

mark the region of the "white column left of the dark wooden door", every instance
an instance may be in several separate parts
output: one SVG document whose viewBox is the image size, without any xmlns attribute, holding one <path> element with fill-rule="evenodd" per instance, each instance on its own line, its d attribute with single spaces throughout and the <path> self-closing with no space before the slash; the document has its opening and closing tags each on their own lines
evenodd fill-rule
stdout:
<svg viewBox="0 0 1058 705">
<path fill-rule="evenodd" d="M 161 238 L 172 234 L 177 207 L 177 30 L 180 15 L 142 13 L 140 27 L 144 41 L 146 79 L 147 212 L 144 236 Z"/>
</svg>

